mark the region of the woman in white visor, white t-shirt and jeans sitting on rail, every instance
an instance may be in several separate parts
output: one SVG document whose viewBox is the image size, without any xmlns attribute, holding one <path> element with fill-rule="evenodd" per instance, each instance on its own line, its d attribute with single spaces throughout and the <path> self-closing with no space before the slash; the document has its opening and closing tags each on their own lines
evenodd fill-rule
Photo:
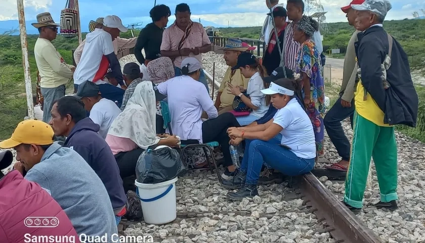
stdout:
<svg viewBox="0 0 425 243">
<path fill-rule="evenodd" d="M 231 138 L 244 138 L 246 144 L 241 168 L 233 180 L 223 181 L 223 187 L 240 188 L 227 194 L 231 199 L 258 195 L 257 182 L 264 163 L 288 176 L 302 175 L 314 168 L 313 126 L 295 98 L 301 97 L 300 84 L 296 80 L 278 79 L 262 92 L 272 96 L 272 104 L 278 109 L 273 119 L 262 125 L 228 130 Z M 279 133 L 280 142 L 271 140 Z"/>
</svg>

